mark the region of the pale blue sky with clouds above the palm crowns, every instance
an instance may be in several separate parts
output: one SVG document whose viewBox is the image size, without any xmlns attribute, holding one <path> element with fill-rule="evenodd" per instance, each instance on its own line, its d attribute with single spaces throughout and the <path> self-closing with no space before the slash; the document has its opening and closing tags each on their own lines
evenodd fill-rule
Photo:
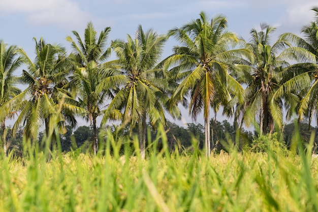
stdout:
<svg viewBox="0 0 318 212">
<path fill-rule="evenodd" d="M 198 18 L 204 11 L 210 17 L 225 15 L 229 30 L 244 39 L 261 22 L 274 25 L 277 31 L 273 40 L 276 40 L 285 32 L 300 35 L 301 27 L 313 20 L 310 8 L 314 5 L 318 3 L 313 0 L 0 0 L 0 39 L 22 47 L 33 58 L 33 37 L 43 37 L 48 43 L 61 43 L 70 49 L 65 38 L 72 36 L 73 30 L 83 35 L 88 21 L 93 22 L 98 32 L 110 26 L 110 42 L 125 39 L 126 34 L 133 36 L 139 24 L 145 30 L 152 28 L 164 34 Z M 176 44 L 171 38 L 164 56 Z M 183 117 L 192 122 L 187 111 Z"/>
</svg>

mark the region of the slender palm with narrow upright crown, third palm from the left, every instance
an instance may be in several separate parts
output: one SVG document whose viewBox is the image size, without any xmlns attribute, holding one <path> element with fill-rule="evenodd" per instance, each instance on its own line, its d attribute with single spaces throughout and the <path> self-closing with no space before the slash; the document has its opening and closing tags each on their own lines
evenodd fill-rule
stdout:
<svg viewBox="0 0 318 212">
<path fill-rule="evenodd" d="M 96 155 L 98 151 L 97 117 L 107 97 L 111 97 L 113 86 L 107 78 L 109 72 L 104 68 L 105 60 L 110 56 L 111 48 L 107 48 L 110 27 L 106 27 L 97 37 L 92 22 L 88 22 L 84 32 L 84 40 L 73 31 L 77 43 L 70 37 L 73 52 L 76 56 L 75 70 L 69 86 L 77 91 L 79 106 L 86 110 L 85 118 L 93 127 L 92 148 Z M 110 81 L 106 81 L 110 80 Z M 115 80 L 112 82 L 115 83 Z M 106 87 L 108 86 L 108 87 Z"/>
</svg>

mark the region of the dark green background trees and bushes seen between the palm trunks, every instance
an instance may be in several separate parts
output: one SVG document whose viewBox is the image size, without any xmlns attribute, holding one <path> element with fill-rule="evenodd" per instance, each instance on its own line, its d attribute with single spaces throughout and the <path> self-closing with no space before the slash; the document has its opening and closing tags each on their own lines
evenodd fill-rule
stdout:
<svg viewBox="0 0 318 212">
<path fill-rule="evenodd" d="M 233 148 L 238 151 L 251 151 L 251 152 L 268 152 L 269 145 L 279 145 L 281 149 L 287 150 L 298 150 L 297 145 L 293 141 L 295 132 L 301 135 L 301 140 L 303 148 L 306 149 L 307 145 L 310 143 L 312 132 L 315 132 L 315 138 L 312 146 L 312 153 L 318 152 L 318 136 L 317 127 L 310 127 L 308 122 L 301 122 L 297 125 L 299 131 L 295 129 L 295 124 L 290 123 L 284 126 L 284 134 L 281 136 L 263 136 L 260 137 L 257 131 L 246 131 L 241 130 L 238 132 L 235 127 L 228 122 L 228 120 L 222 120 L 219 122 L 214 118 L 210 120 L 211 130 L 213 130 L 213 136 L 211 137 L 211 148 L 215 154 L 221 151 L 231 152 Z M 130 136 L 131 132 L 128 128 L 123 128 L 123 130 L 118 130 L 119 126 L 113 125 L 107 128 L 98 128 L 99 138 L 98 142 L 102 146 L 106 146 L 107 136 L 116 137 L 118 131 L 120 137 L 126 137 L 128 139 L 121 141 L 120 154 L 124 154 L 124 148 L 127 147 L 125 143 L 129 143 L 128 153 L 131 155 L 135 154 L 135 147 L 132 145 L 133 141 Z M 111 129 L 111 135 L 107 135 L 106 129 Z M 163 149 L 163 140 L 161 138 L 157 139 L 158 132 L 156 129 L 152 128 L 149 123 L 147 123 L 146 137 L 150 138 L 146 143 L 146 149 L 152 149 L 152 142 L 156 143 L 156 149 L 161 151 Z M 186 127 L 179 126 L 175 123 L 167 120 L 166 123 L 166 143 L 170 152 L 178 151 L 179 153 L 192 153 L 194 148 L 204 149 L 204 126 L 200 123 L 187 123 Z M 133 129 L 133 133 L 138 133 L 138 129 Z M 63 153 L 68 153 L 70 151 L 75 151 L 78 153 L 87 153 L 91 149 L 91 139 L 93 135 L 92 126 L 80 126 L 74 130 L 71 126 L 66 126 L 66 133 L 58 135 L 58 145 L 59 150 Z M 105 136 L 106 135 L 106 136 Z M 239 135 L 239 139 L 237 136 Z M 33 142 L 38 142 L 39 150 L 45 150 L 45 132 L 39 133 L 38 139 Z M 115 138 L 115 140 L 119 138 Z M 109 140 L 109 139 L 108 139 Z M 157 140 L 157 141 L 156 141 Z M 19 128 L 15 133 L 12 134 L 12 130 L 8 129 L 6 134 L 6 141 L 8 142 L 8 150 L 12 152 L 14 157 L 23 157 L 23 128 Z M 271 143 L 268 143 L 271 142 Z M 116 142 L 118 144 L 118 141 Z M 112 147 L 111 147 L 112 148 Z M 104 149 L 103 149 L 104 150 Z"/>
</svg>

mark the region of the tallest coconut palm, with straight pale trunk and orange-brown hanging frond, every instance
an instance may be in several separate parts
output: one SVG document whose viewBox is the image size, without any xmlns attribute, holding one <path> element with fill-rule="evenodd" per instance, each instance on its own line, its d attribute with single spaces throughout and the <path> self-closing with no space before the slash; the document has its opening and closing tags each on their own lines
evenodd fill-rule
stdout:
<svg viewBox="0 0 318 212">
<path fill-rule="evenodd" d="M 210 156 L 210 107 L 226 103 L 230 91 L 242 100 L 243 88 L 229 74 L 234 68 L 233 62 L 240 57 L 248 57 L 244 49 L 230 49 L 229 45 L 238 41 L 234 33 L 227 31 L 227 19 L 215 16 L 211 19 L 204 12 L 200 19 L 192 20 L 181 28 L 173 28 L 174 36 L 181 46 L 175 46 L 175 54 L 166 62 L 166 66 L 177 65 L 170 70 L 180 84 L 173 95 L 182 101 L 190 90 L 189 114 L 196 120 L 204 111 L 205 149 Z M 219 103 L 216 103 L 216 100 Z"/>
</svg>

